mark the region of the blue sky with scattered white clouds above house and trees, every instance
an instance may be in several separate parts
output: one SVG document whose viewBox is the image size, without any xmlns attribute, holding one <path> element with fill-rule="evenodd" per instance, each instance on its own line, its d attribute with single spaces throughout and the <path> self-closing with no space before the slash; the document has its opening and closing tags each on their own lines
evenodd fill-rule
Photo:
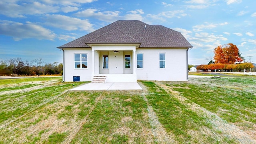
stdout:
<svg viewBox="0 0 256 144">
<path fill-rule="evenodd" d="M 214 48 L 235 44 L 256 63 L 255 0 L 1 0 L 0 59 L 62 63 L 66 44 L 116 20 L 181 32 L 194 46 L 188 62 L 207 64 Z"/>
</svg>

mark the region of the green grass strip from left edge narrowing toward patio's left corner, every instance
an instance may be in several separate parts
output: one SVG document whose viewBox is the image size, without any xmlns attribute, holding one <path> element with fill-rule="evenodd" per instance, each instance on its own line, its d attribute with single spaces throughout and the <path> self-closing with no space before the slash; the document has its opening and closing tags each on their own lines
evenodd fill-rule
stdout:
<svg viewBox="0 0 256 144">
<path fill-rule="evenodd" d="M 5 120 L 11 120 L 32 111 L 35 107 L 40 106 L 42 103 L 50 101 L 54 96 L 61 94 L 64 90 L 72 88 L 72 84 L 60 84 L 42 88 L 41 90 L 32 90 L 20 94 L 6 94 L 3 97 L 9 98 L 10 101 L 0 103 L 4 108 L 0 112 L 0 124 Z M 3 98 L 2 98 L 3 99 Z"/>
</svg>

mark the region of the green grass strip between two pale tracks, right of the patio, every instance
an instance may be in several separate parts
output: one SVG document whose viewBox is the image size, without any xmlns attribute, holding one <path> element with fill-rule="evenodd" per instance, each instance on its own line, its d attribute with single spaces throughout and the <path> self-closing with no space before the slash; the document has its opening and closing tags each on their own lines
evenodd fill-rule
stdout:
<svg viewBox="0 0 256 144">
<path fill-rule="evenodd" d="M 206 118 L 198 115 L 196 112 L 181 102 L 164 89 L 153 82 L 143 82 L 149 88 L 150 94 L 146 97 L 154 108 L 158 120 L 166 128 L 166 131 L 175 135 L 176 141 L 180 143 L 196 142 L 193 135 L 188 130 L 199 131 L 202 127 L 212 128 Z M 202 136 L 202 139 L 209 139 L 210 136 Z M 216 140 L 210 137 L 207 143 L 215 143 Z"/>
</svg>

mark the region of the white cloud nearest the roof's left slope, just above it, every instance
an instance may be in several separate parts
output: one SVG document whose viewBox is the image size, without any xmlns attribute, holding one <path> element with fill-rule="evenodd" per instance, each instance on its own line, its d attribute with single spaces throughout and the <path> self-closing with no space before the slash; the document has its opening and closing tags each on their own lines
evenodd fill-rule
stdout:
<svg viewBox="0 0 256 144">
<path fill-rule="evenodd" d="M 90 24 L 88 20 L 81 20 L 79 18 L 72 18 L 59 14 L 46 15 L 45 24 L 56 28 L 62 28 L 64 30 L 84 30 L 92 32 L 93 24 Z"/>
</svg>

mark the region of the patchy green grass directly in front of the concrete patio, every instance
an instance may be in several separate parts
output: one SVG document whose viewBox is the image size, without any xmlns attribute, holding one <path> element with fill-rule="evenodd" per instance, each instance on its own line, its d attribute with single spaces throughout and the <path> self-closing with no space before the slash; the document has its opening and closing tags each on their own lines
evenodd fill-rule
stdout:
<svg viewBox="0 0 256 144">
<path fill-rule="evenodd" d="M 86 96 L 86 95 L 85 95 Z M 97 98 L 103 97 L 100 102 L 94 104 L 94 109 L 88 114 L 87 123 L 76 134 L 72 143 L 128 143 L 133 139 L 143 143 L 146 138 L 140 137 L 143 128 L 149 128 L 147 119 L 143 119 L 146 113 L 146 102 L 140 95 L 124 94 L 122 92 L 102 92 L 96 94 Z M 129 99 L 129 100 L 128 100 Z M 122 122 L 122 118 L 131 117 L 131 120 Z M 125 132 L 122 132 L 124 128 Z M 128 132 L 138 133 L 131 138 Z M 82 138 L 82 139 L 81 139 Z"/>
</svg>

